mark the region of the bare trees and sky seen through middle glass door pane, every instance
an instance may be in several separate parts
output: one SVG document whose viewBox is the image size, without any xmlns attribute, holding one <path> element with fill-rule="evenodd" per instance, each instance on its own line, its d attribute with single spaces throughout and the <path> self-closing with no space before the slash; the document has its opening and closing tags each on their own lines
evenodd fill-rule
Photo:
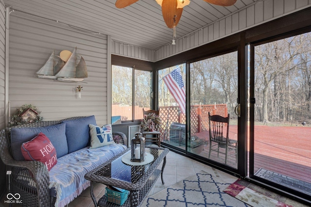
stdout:
<svg viewBox="0 0 311 207">
<path fill-rule="evenodd" d="M 237 59 L 237 52 L 231 52 L 191 63 L 191 103 L 226 103 L 229 111 L 234 109 L 238 96 Z"/>
</svg>

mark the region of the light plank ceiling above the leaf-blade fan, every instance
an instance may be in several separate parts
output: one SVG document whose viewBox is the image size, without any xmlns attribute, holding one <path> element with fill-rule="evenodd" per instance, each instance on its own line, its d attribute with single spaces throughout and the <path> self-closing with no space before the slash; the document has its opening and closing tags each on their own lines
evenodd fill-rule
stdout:
<svg viewBox="0 0 311 207">
<path fill-rule="evenodd" d="M 60 23 L 111 35 L 114 41 L 156 49 L 172 41 L 173 30 L 166 27 L 161 7 L 155 0 L 138 0 L 123 8 L 116 0 L 4 0 L 16 12 L 40 16 Z M 204 28 L 218 19 L 262 0 L 238 0 L 222 7 L 203 0 L 191 0 L 177 25 L 177 38 Z"/>
</svg>

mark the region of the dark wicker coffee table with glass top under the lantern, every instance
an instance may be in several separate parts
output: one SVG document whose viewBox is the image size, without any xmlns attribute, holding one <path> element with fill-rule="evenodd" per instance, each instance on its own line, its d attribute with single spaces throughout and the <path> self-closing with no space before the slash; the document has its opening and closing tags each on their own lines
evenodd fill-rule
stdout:
<svg viewBox="0 0 311 207">
<path fill-rule="evenodd" d="M 139 207 L 160 175 L 162 183 L 164 184 L 163 170 L 169 149 L 146 146 L 146 152 L 154 156 L 153 161 L 149 164 L 136 166 L 123 163 L 122 156 L 128 156 L 128 154 L 131 153 L 131 148 L 129 147 L 120 155 L 108 160 L 84 176 L 87 180 L 91 181 L 90 194 L 95 207 L 120 206 L 107 202 L 105 195 L 97 202 L 93 193 L 94 182 L 130 191 L 122 207 Z M 162 160 L 163 164 L 161 170 L 157 169 Z"/>
</svg>

